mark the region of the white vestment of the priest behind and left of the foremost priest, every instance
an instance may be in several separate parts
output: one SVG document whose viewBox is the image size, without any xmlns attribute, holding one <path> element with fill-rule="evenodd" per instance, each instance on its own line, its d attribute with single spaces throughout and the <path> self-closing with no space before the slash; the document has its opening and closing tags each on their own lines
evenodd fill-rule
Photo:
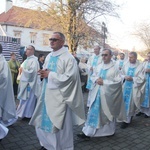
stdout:
<svg viewBox="0 0 150 150">
<path fill-rule="evenodd" d="M 21 65 L 23 71 L 18 88 L 17 116 L 31 118 L 40 95 L 40 77 L 38 76 L 39 62 L 34 55 L 28 57 Z"/>
</svg>

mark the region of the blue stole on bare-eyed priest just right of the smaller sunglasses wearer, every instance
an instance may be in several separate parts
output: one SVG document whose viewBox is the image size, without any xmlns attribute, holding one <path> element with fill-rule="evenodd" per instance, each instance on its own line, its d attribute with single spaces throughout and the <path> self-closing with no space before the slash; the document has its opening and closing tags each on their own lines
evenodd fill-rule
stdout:
<svg viewBox="0 0 150 150">
<path fill-rule="evenodd" d="M 134 77 L 135 69 L 136 68 L 129 68 L 127 75 Z M 124 85 L 124 91 L 123 91 L 123 100 L 125 102 L 126 113 L 128 113 L 129 106 L 130 106 L 130 100 L 131 100 L 131 94 L 132 94 L 133 81 L 126 80 L 124 84 L 125 85 Z"/>
</svg>

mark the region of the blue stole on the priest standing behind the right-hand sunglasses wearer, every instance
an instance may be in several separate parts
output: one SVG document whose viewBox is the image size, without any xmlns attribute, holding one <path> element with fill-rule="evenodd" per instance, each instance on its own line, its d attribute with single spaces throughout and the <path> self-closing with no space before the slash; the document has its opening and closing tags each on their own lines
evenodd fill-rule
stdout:
<svg viewBox="0 0 150 150">
<path fill-rule="evenodd" d="M 93 59 L 93 62 L 92 62 L 92 67 L 96 67 L 97 66 L 98 58 L 99 58 L 99 56 L 96 56 L 96 55 L 94 56 L 94 59 Z M 92 72 L 91 72 L 90 76 L 91 75 L 92 75 Z M 92 83 L 92 80 L 89 77 L 87 85 L 86 85 L 86 88 L 89 89 L 89 90 L 91 90 L 92 87 L 93 87 L 93 83 Z"/>
</svg>

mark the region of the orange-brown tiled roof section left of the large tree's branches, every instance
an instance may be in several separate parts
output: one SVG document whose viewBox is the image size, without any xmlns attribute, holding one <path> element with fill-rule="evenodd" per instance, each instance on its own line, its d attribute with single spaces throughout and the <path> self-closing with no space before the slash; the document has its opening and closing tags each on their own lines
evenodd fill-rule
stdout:
<svg viewBox="0 0 150 150">
<path fill-rule="evenodd" d="M 45 20 L 45 25 L 42 23 L 42 28 L 45 29 L 47 28 L 48 20 L 50 20 L 50 16 L 45 12 L 13 6 L 9 11 L 0 14 L 0 24 L 41 28 L 40 20 L 42 16 L 44 16 Z"/>
</svg>

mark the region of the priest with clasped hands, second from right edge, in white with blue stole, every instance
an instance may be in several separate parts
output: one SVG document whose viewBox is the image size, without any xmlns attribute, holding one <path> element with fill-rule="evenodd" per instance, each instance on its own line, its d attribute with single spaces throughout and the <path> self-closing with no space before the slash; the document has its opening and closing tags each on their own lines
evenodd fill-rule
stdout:
<svg viewBox="0 0 150 150">
<path fill-rule="evenodd" d="M 125 102 L 126 120 L 121 128 L 127 128 L 133 116 L 140 110 L 141 98 L 144 93 L 145 76 L 143 66 L 137 60 L 137 53 L 129 53 L 129 61 L 122 67 L 123 100 Z"/>
</svg>

